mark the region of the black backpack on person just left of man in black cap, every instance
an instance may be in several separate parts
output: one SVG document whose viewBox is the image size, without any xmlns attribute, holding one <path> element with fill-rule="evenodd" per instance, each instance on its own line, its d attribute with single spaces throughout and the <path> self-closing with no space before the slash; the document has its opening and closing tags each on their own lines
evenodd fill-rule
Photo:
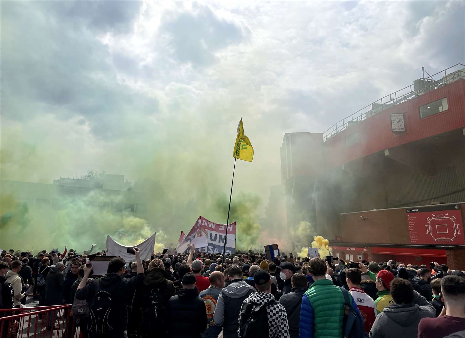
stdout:
<svg viewBox="0 0 465 338">
<path fill-rule="evenodd" d="M 145 294 L 141 310 L 140 331 L 142 334 L 166 331 L 166 307 L 163 293 L 159 288 L 154 287 L 148 294 Z"/>
</svg>

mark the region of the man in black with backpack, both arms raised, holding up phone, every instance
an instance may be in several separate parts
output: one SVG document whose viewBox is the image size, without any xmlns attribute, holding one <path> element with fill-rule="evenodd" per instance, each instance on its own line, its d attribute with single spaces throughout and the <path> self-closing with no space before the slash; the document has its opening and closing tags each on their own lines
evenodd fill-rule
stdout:
<svg viewBox="0 0 465 338">
<path fill-rule="evenodd" d="M 114 257 L 108 263 L 106 274 L 87 283 L 92 266 L 88 265 L 90 261 L 86 262 L 84 277 L 79 283 L 75 297 L 81 300 L 86 299 L 89 308 L 95 310 L 91 312 L 95 314 L 95 318 L 91 318 L 92 325 L 88 332 L 91 338 L 124 337 L 127 322 L 127 294 L 134 293 L 144 280 L 144 267 L 140 260 L 139 248 L 134 247 L 133 250 L 136 256 L 137 274 L 131 278 L 122 277 L 126 261 L 121 257 Z M 97 294 L 98 296 L 95 297 Z M 109 313 L 109 315 L 100 317 L 100 312 Z"/>
</svg>

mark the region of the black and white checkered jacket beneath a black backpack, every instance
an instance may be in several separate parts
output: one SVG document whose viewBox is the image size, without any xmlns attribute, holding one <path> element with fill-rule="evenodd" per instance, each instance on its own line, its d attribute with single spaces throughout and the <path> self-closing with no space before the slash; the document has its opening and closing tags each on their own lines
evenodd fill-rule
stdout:
<svg viewBox="0 0 465 338">
<path fill-rule="evenodd" d="M 274 296 L 271 293 L 253 292 L 244 302 L 250 300 L 252 303 L 265 304 L 273 299 Z M 270 338 L 289 338 L 289 325 L 287 324 L 287 313 L 284 306 L 278 302 L 273 302 L 266 306 L 266 313 L 268 314 L 268 331 L 270 332 Z M 238 330 L 238 334 L 239 338 L 241 338 L 240 330 Z"/>
</svg>

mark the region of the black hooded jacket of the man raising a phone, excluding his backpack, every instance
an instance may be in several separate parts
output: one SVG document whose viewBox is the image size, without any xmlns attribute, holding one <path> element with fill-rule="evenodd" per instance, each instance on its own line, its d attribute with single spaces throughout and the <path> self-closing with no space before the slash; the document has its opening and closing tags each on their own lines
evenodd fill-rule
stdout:
<svg viewBox="0 0 465 338">
<path fill-rule="evenodd" d="M 112 295 L 111 317 L 115 331 L 126 329 L 127 312 L 126 297 L 134 293 L 137 287 L 142 284 L 144 274 L 140 273 L 132 278 L 123 278 L 116 273 L 106 273 L 102 277 L 87 282 L 86 286 L 76 291 L 76 298 L 87 300 L 87 304 L 92 305 L 93 298 L 100 290 Z"/>
</svg>

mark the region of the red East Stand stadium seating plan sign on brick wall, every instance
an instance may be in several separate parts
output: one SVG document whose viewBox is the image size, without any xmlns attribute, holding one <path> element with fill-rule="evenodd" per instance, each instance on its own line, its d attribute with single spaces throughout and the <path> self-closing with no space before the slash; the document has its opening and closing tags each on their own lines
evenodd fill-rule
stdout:
<svg viewBox="0 0 465 338">
<path fill-rule="evenodd" d="M 459 204 L 408 208 L 407 224 L 412 244 L 465 244 Z"/>
</svg>

